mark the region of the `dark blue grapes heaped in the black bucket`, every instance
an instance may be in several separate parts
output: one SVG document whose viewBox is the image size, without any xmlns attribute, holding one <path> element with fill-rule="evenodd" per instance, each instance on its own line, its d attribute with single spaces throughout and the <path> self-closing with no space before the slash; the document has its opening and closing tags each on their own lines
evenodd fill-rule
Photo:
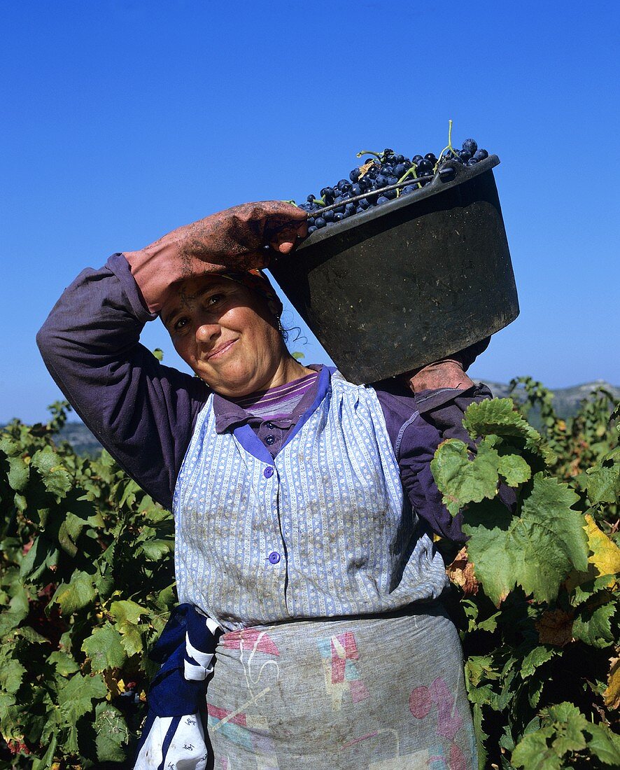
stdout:
<svg viewBox="0 0 620 770">
<path fill-rule="evenodd" d="M 370 156 L 370 159 L 353 169 L 349 179 L 340 179 L 333 187 L 323 187 L 320 198 L 309 195 L 305 203 L 298 204 L 308 213 L 308 233 L 374 206 L 382 206 L 399 195 L 408 195 L 427 185 L 436 173 L 454 173 L 454 163 L 474 166 L 487 158 L 488 152 L 478 149 L 474 139 L 466 139 L 460 150 L 453 149 L 449 140 L 439 158 L 428 152 L 425 156 L 415 155 L 410 160 L 404 155 L 397 155 L 392 149 L 384 149 L 380 153 L 357 153 L 358 157 L 364 155 Z M 398 182 L 407 184 L 389 189 Z M 313 212 L 319 212 L 326 206 L 330 209 L 313 216 Z"/>
</svg>

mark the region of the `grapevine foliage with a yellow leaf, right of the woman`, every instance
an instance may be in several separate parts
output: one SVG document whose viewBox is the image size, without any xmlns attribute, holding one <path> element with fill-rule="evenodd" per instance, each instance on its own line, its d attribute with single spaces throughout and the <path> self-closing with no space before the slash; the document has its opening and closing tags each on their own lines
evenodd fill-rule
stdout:
<svg viewBox="0 0 620 770">
<path fill-rule="evenodd" d="M 469 536 L 448 575 L 480 768 L 617 767 L 620 407 L 610 417 L 601 390 L 561 420 L 541 383 L 511 385 L 517 407 L 494 399 L 465 413 L 475 457 L 451 439 L 431 464 Z M 533 407 L 540 431 L 525 419 Z M 454 547 L 440 547 L 449 561 Z"/>
</svg>

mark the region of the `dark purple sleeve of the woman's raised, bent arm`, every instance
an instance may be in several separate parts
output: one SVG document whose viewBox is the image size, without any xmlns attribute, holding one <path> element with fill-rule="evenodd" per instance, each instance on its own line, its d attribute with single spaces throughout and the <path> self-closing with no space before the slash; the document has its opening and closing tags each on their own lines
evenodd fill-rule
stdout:
<svg viewBox="0 0 620 770">
<path fill-rule="evenodd" d="M 86 269 L 37 335 L 45 365 L 75 411 L 119 464 L 169 507 L 204 383 L 139 343 L 152 316 L 126 259 Z"/>
</svg>

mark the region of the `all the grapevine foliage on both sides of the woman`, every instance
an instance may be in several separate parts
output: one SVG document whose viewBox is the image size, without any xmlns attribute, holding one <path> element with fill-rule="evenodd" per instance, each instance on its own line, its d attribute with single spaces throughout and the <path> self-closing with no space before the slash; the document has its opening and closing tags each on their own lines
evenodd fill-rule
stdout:
<svg viewBox="0 0 620 770">
<path fill-rule="evenodd" d="M 447 440 L 431 466 L 470 537 L 438 545 L 480 767 L 618 766 L 618 410 L 601 391 L 560 420 L 540 383 L 512 384 L 468 409 L 476 456 Z M 105 451 L 59 443 L 69 407 L 51 408 L 0 431 L 0 762 L 127 767 L 176 601 L 173 521 Z"/>
</svg>

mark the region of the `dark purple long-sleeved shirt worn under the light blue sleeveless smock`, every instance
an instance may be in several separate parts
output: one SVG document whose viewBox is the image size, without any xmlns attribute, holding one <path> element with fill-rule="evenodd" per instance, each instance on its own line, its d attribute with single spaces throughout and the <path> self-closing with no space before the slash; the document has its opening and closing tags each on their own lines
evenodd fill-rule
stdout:
<svg viewBox="0 0 620 770">
<path fill-rule="evenodd" d="M 142 327 L 156 317 L 142 303 L 129 263 L 114 254 L 101 269 L 82 271 L 65 290 L 37 342 L 55 382 L 92 433 L 129 476 L 169 508 L 209 389 L 202 380 L 159 363 L 139 343 Z M 461 517 L 453 519 L 441 502 L 430 462 L 444 438 L 471 444 L 461 423 L 463 411 L 491 392 L 480 385 L 414 396 L 396 382 L 376 390 L 414 510 L 432 531 L 464 541 Z M 213 408 L 220 430 L 232 430 L 240 407 L 217 397 Z M 252 427 L 259 437 L 267 433 L 261 422 L 253 421 Z"/>
</svg>

